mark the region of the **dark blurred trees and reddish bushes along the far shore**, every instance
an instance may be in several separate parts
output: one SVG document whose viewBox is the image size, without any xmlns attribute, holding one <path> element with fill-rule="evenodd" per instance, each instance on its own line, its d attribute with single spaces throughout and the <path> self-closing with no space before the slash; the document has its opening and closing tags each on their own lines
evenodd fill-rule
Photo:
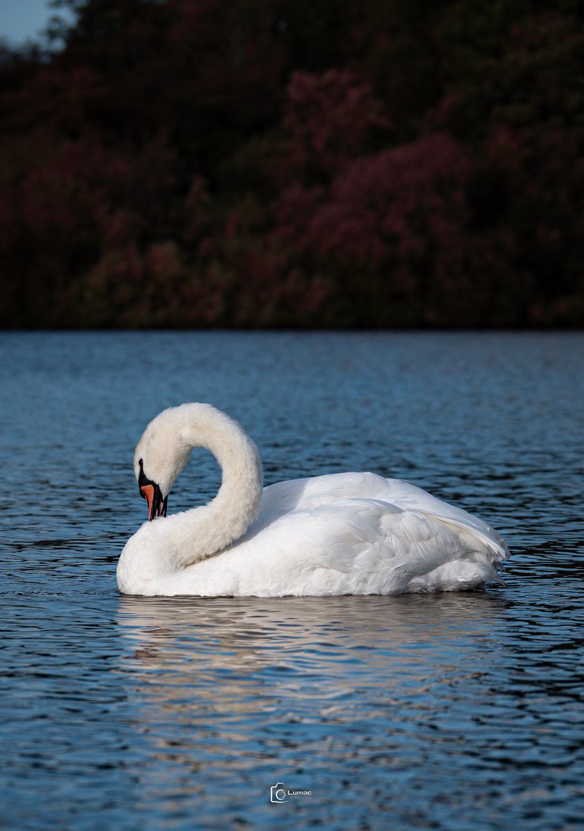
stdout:
<svg viewBox="0 0 584 831">
<path fill-rule="evenodd" d="M 3 327 L 584 323 L 579 0 L 52 5 L 0 50 Z"/>
</svg>

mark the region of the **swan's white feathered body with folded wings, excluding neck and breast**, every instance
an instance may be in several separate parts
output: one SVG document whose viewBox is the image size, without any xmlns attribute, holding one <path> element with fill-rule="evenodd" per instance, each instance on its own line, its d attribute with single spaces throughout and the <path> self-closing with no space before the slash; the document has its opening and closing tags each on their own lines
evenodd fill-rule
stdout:
<svg viewBox="0 0 584 831">
<path fill-rule="evenodd" d="M 481 519 L 409 482 L 333 474 L 265 488 L 245 536 L 187 568 L 176 593 L 453 591 L 500 579 L 505 558 L 507 546 Z"/>
</svg>

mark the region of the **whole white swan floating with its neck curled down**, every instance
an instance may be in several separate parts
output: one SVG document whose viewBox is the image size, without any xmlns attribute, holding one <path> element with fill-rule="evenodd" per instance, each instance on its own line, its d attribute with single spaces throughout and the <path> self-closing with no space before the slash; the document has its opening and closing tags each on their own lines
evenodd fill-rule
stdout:
<svg viewBox="0 0 584 831">
<path fill-rule="evenodd" d="M 215 455 L 219 492 L 209 504 L 166 516 L 194 447 Z M 121 552 L 122 594 L 399 594 L 502 582 L 502 537 L 409 482 L 341 473 L 263 488 L 254 442 L 210 404 L 182 404 L 151 420 L 134 472 L 148 521 Z"/>
</svg>

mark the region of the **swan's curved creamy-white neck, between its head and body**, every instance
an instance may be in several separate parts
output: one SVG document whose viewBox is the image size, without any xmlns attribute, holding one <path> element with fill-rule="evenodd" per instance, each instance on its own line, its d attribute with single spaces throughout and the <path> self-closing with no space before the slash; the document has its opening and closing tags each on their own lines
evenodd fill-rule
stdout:
<svg viewBox="0 0 584 831">
<path fill-rule="evenodd" d="M 182 408 L 179 408 L 182 409 Z M 209 504 L 166 519 L 156 519 L 184 568 L 235 542 L 257 517 L 262 494 L 260 454 L 245 430 L 209 405 L 187 405 L 181 442 L 203 447 L 221 467 L 221 487 Z"/>
</svg>

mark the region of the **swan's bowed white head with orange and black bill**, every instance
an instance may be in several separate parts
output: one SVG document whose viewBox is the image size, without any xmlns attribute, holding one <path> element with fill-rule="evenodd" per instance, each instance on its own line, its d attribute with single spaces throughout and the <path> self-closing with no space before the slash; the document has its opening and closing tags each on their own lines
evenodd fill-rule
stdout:
<svg viewBox="0 0 584 831">
<path fill-rule="evenodd" d="M 166 516 L 168 494 L 191 455 L 192 446 L 177 423 L 178 409 L 171 407 L 151 420 L 134 452 L 134 473 L 149 520 Z"/>
</svg>

